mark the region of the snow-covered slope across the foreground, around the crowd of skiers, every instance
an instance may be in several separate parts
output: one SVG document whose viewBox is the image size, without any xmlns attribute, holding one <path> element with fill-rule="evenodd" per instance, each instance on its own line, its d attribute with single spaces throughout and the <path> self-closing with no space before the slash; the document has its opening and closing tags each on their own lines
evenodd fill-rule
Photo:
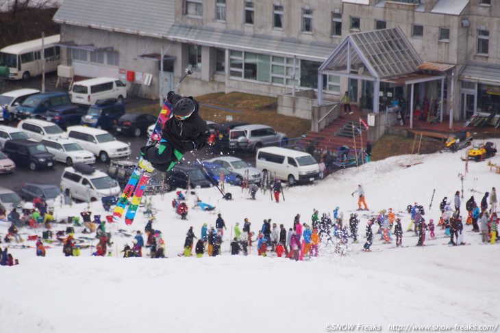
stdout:
<svg viewBox="0 0 500 333">
<path fill-rule="evenodd" d="M 492 140 L 500 146 L 499 140 Z M 234 200 L 222 200 L 217 189 L 197 191 L 204 202 L 216 206 L 214 213 L 190 209 L 188 220 L 175 215 L 171 200 L 175 192 L 153 197 L 158 209 L 153 228 L 166 241 L 165 259 L 121 258 L 120 250 L 131 238 L 116 235 L 118 228 L 131 233 L 144 230 L 147 217 L 138 213 L 132 226 L 123 221 L 109 224 L 114 235 L 112 257 L 64 257 L 53 245 L 47 256 L 35 250 L 9 250 L 20 265 L 0 267 L 0 332 L 390 332 L 395 325 L 417 330 L 434 325 L 427 332 L 458 332 L 464 328 L 493 325 L 498 330 L 500 246 L 482 245 L 480 236 L 465 226 L 464 241 L 471 245 L 449 247 L 444 231 L 436 228 L 436 239 L 416 248 L 417 238 L 405 232 L 403 245 L 383 244 L 375 235 L 371 253 L 361 252 L 367 219 L 360 222 L 360 243 L 353 244 L 349 256 L 325 255 L 312 261 L 290 261 L 256 255 L 230 256 L 229 237 L 236 222 L 245 217 L 257 232 L 263 219 L 292 226 L 297 213 L 310 223 L 313 209 L 331 213 L 338 206 L 349 218 L 357 208 L 351 196 L 361 183 L 366 202 L 373 211 L 392 208 L 402 215 L 405 229 L 410 218 L 408 204 L 425 207 L 425 218 L 437 220 L 443 197 L 452 200 L 462 191 L 465 202 L 475 195 L 499 187 L 500 175 L 490 172 L 486 161 L 465 163 L 463 152 L 421 157 L 392 157 L 340 170 L 314 185 L 285 189 L 286 201 L 272 202 L 269 194 L 247 200 L 247 193 L 230 187 Z M 500 163 L 493 157 L 492 163 Z M 402 165 L 423 162 L 405 168 Z M 432 209 L 429 203 L 436 189 Z M 196 196 L 188 194 L 190 208 Z M 78 215 L 86 204 L 58 207 L 57 219 Z M 92 204 L 93 214 L 105 215 L 100 204 Z M 179 257 L 186 232 L 194 227 L 199 237 L 203 223 L 215 224 L 221 213 L 227 224 L 223 255 L 215 258 Z M 361 213 L 360 215 L 362 215 Z M 8 224 L 0 222 L 0 233 Z M 55 230 L 65 226 L 54 226 Z M 78 229 L 78 228 L 77 228 Z M 376 228 L 373 228 L 376 232 Z M 79 230 L 76 230 L 78 237 Z M 35 235 L 34 230 L 21 230 Z M 41 232 L 41 231 L 39 231 Z M 23 237 L 27 237 L 23 235 Z M 428 237 L 428 235 L 427 235 Z M 25 241 L 34 245 L 34 241 Z M 5 245 L 5 244 L 1 244 Z M 435 246 L 432 246 L 435 245 Z M 447 327 L 449 325 L 449 327 Z M 465 326 L 460 326 L 465 325 Z M 468 325 L 468 326 L 467 326 Z M 473 325 L 476 325 L 475 327 Z M 492 331 L 486 330 L 486 331 Z"/>
</svg>

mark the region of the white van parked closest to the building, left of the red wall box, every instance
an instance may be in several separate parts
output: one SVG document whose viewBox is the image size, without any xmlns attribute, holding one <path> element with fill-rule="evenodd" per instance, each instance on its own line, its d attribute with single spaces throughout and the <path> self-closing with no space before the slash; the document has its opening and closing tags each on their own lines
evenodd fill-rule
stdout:
<svg viewBox="0 0 500 333">
<path fill-rule="evenodd" d="M 97 77 L 73 83 L 69 94 L 75 104 L 94 105 L 99 99 L 107 98 L 123 103 L 127 98 L 127 85 L 112 77 Z"/>
</svg>

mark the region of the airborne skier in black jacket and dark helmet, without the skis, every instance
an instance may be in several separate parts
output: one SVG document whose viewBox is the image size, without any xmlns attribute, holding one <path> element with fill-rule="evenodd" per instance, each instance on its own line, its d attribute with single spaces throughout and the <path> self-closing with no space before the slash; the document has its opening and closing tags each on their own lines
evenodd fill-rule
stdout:
<svg viewBox="0 0 500 333">
<path fill-rule="evenodd" d="M 168 92 L 168 103 L 173 105 L 173 116 L 166 120 L 158 146 L 151 144 L 140 148 L 143 159 L 156 170 L 167 172 L 184 153 L 201 150 L 208 140 L 213 142 L 207 123 L 199 116 L 199 105 L 191 96 L 182 98 Z"/>
</svg>

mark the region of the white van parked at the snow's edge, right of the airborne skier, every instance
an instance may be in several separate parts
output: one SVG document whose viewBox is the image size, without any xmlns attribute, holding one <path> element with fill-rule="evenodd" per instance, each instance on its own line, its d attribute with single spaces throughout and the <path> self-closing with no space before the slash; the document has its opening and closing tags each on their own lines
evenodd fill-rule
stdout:
<svg viewBox="0 0 500 333">
<path fill-rule="evenodd" d="M 277 179 L 288 181 L 289 185 L 310 183 L 319 175 L 319 165 L 310 154 L 280 147 L 260 148 L 255 168 L 263 174 L 272 173 Z"/>
</svg>

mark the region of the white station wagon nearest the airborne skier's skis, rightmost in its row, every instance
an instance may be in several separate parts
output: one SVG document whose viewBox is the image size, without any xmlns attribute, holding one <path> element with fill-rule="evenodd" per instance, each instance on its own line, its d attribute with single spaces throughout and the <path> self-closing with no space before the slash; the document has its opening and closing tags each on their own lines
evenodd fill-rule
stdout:
<svg viewBox="0 0 500 333">
<path fill-rule="evenodd" d="M 69 126 L 68 137 L 78 142 L 85 150 L 99 157 L 101 162 L 107 162 L 110 159 L 126 159 L 132 153 L 130 144 L 118 141 L 103 129 Z"/>
</svg>

